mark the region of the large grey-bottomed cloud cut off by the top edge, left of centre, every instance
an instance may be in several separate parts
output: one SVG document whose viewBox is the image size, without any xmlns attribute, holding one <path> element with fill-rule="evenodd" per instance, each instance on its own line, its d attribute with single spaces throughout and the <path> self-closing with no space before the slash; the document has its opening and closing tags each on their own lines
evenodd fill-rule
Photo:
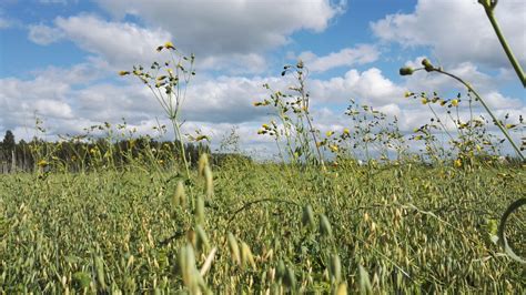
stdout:
<svg viewBox="0 0 526 295">
<path fill-rule="evenodd" d="M 101 0 L 98 3 L 117 18 L 133 14 L 152 27 L 162 27 L 176 37 L 176 44 L 203 55 L 246 54 L 285 44 L 295 31 L 325 30 L 345 8 L 345 1 L 331 0 Z"/>
</svg>

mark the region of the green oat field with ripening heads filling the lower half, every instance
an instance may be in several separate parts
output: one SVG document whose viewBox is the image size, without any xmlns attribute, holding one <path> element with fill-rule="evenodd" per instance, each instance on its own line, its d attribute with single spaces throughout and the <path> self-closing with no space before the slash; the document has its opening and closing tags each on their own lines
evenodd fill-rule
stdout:
<svg viewBox="0 0 526 295">
<path fill-rule="evenodd" d="M 490 241 L 524 197 L 522 167 L 232 159 L 204 171 L 184 184 L 145 166 L 1 176 L 0 292 L 526 291 L 524 265 Z M 525 224 L 522 208 L 506 230 L 523 256 Z"/>
</svg>

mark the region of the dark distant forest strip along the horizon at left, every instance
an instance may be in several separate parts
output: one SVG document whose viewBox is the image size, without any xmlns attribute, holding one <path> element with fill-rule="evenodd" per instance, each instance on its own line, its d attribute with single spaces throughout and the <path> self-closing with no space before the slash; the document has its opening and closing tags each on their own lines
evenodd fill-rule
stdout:
<svg viewBox="0 0 526 295">
<path fill-rule="evenodd" d="M 179 161 L 179 142 L 155 141 L 149 136 L 109 142 L 108 139 L 71 139 L 47 142 L 34 138 L 30 142 L 18 143 L 11 131 L 7 131 L 0 143 L 0 173 L 67 170 L 69 172 L 93 169 L 122 169 L 132 162 L 154 162 L 161 166 Z M 195 165 L 203 152 L 211 154 L 210 146 L 203 143 L 186 143 L 186 159 Z M 214 154 L 218 164 L 226 154 Z M 237 157 L 249 159 L 242 155 Z"/>
</svg>

